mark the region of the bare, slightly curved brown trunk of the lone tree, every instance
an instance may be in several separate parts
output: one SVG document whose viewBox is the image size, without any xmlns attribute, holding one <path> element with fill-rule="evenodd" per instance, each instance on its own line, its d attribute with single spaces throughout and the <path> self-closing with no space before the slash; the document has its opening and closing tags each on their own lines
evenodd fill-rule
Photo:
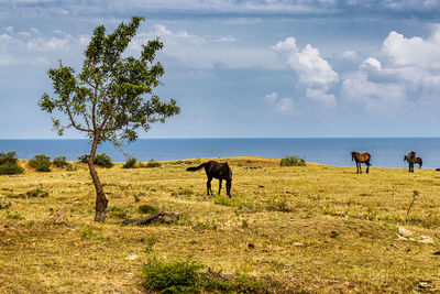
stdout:
<svg viewBox="0 0 440 294">
<path fill-rule="evenodd" d="M 99 141 L 99 137 L 95 135 L 94 143 L 91 145 L 88 164 L 89 164 L 91 179 L 94 181 L 95 189 L 97 193 L 96 207 L 95 207 L 95 211 L 96 211 L 95 213 L 95 221 L 103 222 L 103 221 L 106 221 L 107 204 L 109 200 L 107 199 L 106 194 L 103 193 L 102 184 L 99 181 L 98 173 L 95 168 L 95 163 L 94 163 L 97 146 L 98 146 L 98 141 Z"/>
</svg>

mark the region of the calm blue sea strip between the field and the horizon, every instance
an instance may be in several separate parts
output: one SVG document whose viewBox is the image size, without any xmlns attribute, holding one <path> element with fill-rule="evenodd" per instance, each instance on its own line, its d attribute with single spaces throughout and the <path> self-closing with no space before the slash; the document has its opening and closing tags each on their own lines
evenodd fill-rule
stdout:
<svg viewBox="0 0 440 294">
<path fill-rule="evenodd" d="M 75 161 L 89 149 L 87 140 L 0 140 L 0 151 L 15 150 L 20 159 L 44 153 L 52 159 L 64 155 Z M 142 161 L 297 155 L 309 162 L 338 166 L 354 166 L 350 152 L 359 151 L 372 154 L 373 167 L 406 167 L 404 155 L 414 150 L 424 159 L 424 167 L 440 167 L 440 138 L 140 139 L 123 150 Z M 101 152 L 114 162 L 127 160 L 111 144 L 100 146 L 98 153 Z"/>
</svg>

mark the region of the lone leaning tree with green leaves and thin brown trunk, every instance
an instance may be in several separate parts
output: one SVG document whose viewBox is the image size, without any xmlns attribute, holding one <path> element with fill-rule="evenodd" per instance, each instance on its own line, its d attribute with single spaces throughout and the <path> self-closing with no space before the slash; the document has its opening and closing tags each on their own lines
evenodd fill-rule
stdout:
<svg viewBox="0 0 440 294">
<path fill-rule="evenodd" d="M 106 220 L 108 205 L 94 165 L 97 146 L 105 141 L 116 145 L 135 141 L 139 129 L 147 131 L 151 123 L 165 122 L 180 111 L 174 99 L 163 102 L 153 91 L 164 74 L 163 66 L 154 63 L 156 51 L 163 48 L 158 39 L 143 44 L 139 58 L 124 56 L 141 21 L 144 18 L 133 17 L 108 35 L 103 25 L 97 26 L 85 51 L 81 72 L 76 75 L 74 68 L 59 61 L 57 68 L 48 70 L 55 98 L 45 92 L 38 101 L 42 110 L 65 115 L 64 121 L 52 118 L 59 135 L 74 128 L 90 140 L 88 166 L 97 194 L 96 221 Z"/>
</svg>

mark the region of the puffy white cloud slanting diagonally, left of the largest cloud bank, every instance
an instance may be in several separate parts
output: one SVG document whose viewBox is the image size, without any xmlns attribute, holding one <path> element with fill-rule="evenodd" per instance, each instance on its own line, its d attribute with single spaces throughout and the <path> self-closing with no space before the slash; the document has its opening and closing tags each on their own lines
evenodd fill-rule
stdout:
<svg viewBox="0 0 440 294">
<path fill-rule="evenodd" d="M 295 37 L 287 37 L 272 47 L 278 56 L 298 75 L 299 84 L 306 88 L 306 97 L 326 107 L 334 107 L 334 95 L 329 94 L 339 81 L 339 75 L 320 56 L 318 48 L 310 44 L 301 51 Z"/>
</svg>

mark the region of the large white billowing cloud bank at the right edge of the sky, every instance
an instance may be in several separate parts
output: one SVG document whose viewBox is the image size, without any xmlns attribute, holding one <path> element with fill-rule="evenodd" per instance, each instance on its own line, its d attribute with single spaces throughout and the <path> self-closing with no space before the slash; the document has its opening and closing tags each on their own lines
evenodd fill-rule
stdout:
<svg viewBox="0 0 440 294">
<path fill-rule="evenodd" d="M 393 31 L 384 40 L 382 52 L 382 63 L 369 57 L 358 72 L 343 78 L 342 97 L 384 116 L 433 113 L 440 107 L 440 26 L 435 26 L 427 39 Z"/>
</svg>

